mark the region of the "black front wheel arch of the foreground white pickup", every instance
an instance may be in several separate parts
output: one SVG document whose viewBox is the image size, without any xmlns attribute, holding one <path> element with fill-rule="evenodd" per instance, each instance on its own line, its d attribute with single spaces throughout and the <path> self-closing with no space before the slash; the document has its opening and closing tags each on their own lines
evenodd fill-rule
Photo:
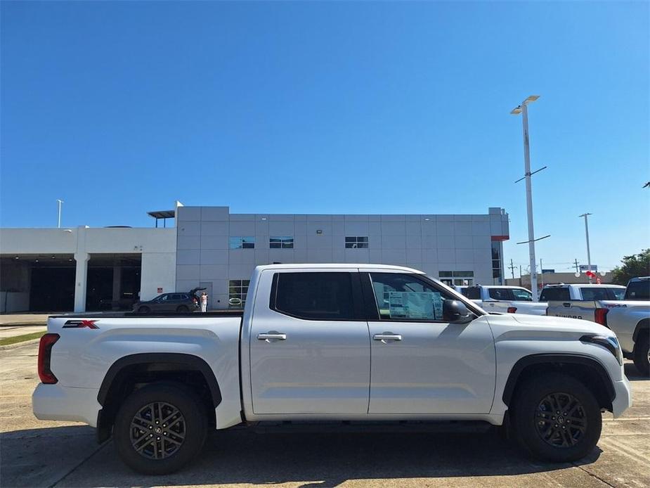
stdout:
<svg viewBox="0 0 650 488">
<path fill-rule="evenodd" d="M 533 376 L 550 372 L 576 378 L 592 392 L 601 409 L 611 411 L 616 393 L 609 374 L 598 361 L 579 354 L 532 354 L 519 359 L 503 390 L 503 403 L 509 407 L 521 385 Z"/>
</svg>

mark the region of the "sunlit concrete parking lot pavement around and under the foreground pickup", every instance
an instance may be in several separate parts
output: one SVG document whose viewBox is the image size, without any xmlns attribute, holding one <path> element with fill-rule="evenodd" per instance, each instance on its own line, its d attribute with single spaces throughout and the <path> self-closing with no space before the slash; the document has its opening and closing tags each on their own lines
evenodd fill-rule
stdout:
<svg viewBox="0 0 650 488">
<path fill-rule="evenodd" d="M 597 449 L 580 463 L 538 463 L 496 432 L 215 432 L 180 473 L 136 475 L 112 442 L 85 425 L 32 415 L 38 346 L 0 350 L 0 486 L 648 487 L 650 380 L 625 365 L 634 406 L 604 417 Z M 351 428 L 352 429 L 352 428 Z"/>
</svg>

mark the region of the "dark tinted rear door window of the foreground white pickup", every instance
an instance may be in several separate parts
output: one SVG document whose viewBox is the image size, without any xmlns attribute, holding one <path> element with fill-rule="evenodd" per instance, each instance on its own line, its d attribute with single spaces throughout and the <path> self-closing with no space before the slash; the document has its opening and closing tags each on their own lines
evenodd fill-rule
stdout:
<svg viewBox="0 0 650 488">
<path fill-rule="evenodd" d="M 271 309 L 299 319 L 354 320 L 351 273 L 277 273 Z"/>
</svg>

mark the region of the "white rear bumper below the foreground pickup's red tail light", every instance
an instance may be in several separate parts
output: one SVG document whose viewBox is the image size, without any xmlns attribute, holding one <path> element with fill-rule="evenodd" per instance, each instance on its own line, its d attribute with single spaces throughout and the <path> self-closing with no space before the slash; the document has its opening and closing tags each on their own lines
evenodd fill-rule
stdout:
<svg viewBox="0 0 650 488">
<path fill-rule="evenodd" d="M 32 394 L 32 409 L 39 420 L 72 420 L 97 426 L 99 390 L 40 383 Z"/>
</svg>

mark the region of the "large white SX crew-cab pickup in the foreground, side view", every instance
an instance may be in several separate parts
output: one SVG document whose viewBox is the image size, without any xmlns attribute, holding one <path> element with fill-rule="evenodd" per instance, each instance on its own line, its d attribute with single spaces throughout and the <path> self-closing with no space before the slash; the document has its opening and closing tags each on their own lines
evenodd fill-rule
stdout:
<svg viewBox="0 0 650 488">
<path fill-rule="evenodd" d="M 611 330 L 490 315 L 373 264 L 257 267 L 240 315 L 53 316 L 38 362 L 37 418 L 88 423 L 152 474 L 193 460 L 209 429 L 267 420 L 480 421 L 570 461 L 631 402 Z"/>
</svg>

